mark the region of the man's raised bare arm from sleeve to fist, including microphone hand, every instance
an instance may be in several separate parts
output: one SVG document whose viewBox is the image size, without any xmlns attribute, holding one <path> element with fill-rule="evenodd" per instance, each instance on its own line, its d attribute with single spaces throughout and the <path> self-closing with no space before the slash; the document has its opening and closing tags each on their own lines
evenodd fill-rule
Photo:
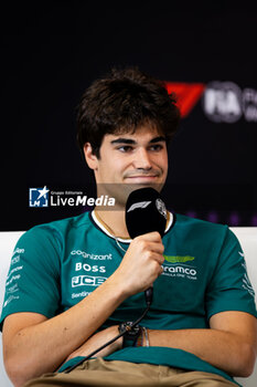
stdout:
<svg viewBox="0 0 257 387">
<path fill-rule="evenodd" d="M 132 294 L 162 273 L 164 247 L 158 232 L 135 238 L 117 270 L 68 311 L 50 320 L 32 313 L 8 316 L 3 326 L 4 364 L 17 385 L 55 370 Z M 140 260 L 139 260 L 140 258 Z M 13 317 L 13 318 L 12 318 Z"/>
</svg>

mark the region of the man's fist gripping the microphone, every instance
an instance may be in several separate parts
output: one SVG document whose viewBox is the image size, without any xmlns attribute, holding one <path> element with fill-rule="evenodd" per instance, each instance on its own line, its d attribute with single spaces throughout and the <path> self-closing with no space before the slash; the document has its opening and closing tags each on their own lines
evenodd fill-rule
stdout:
<svg viewBox="0 0 257 387">
<path fill-rule="evenodd" d="M 137 237 L 131 241 L 113 278 L 124 285 L 128 296 L 143 292 L 163 272 L 163 252 L 159 232 Z"/>
</svg>

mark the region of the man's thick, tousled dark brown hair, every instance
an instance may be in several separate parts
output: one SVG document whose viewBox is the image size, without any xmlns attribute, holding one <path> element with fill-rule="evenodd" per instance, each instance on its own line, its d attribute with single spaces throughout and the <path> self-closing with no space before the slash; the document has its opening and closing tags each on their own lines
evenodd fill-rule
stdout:
<svg viewBox="0 0 257 387">
<path fill-rule="evenodd" d="M 133 133 L 142 125 L 156 127 L 169 142 L 180 121 L 175 102 L 175 95 L 168 94 L 164 83 L 137 67 L 113 69 L 82 97 L 77 113 L 78 146 L 83 153 L 85 143 L 90 143 L 99 158 L 106 134 Z"/>
</svg>

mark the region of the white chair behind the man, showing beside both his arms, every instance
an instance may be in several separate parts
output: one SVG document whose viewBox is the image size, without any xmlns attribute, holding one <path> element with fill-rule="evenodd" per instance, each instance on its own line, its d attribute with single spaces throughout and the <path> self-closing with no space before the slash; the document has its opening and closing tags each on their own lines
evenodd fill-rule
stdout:
<svg viewBox="0 0 257 387">
<path fill-rule="evenodd" d="M 233 232 L 237 236 L 246 255 L 246 263 L 248 268 L 249 279 L 253 286 L 257 290 L 257 227 L 256 228 L 232 228 Z M 24 231 L 6 231 L 0 232 L 0 310 L 4 295 L 4 283 L 7 273 L 10 265 L 13 248 Z M 2 360 L 2 342 L 0 336 L 0 386 L 11 387 L 12 384 L 9 380 Z M 249 378 L 236 379 L 244 387 L 257 386 L 257 367 L 254 374 Z"/>
</svg>

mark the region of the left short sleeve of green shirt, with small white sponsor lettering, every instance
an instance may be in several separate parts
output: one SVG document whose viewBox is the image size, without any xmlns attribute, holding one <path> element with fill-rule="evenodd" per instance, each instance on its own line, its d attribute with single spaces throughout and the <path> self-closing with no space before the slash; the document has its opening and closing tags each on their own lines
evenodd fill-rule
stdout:
<svg viewBox="0 0 257 387">
<path fill-rule="evenodd" d="M 39 226 L 18 241 L 6 282 L 1 325 L 12 313 L 34 312 L 52 317 L 60 305 L 61 239 Z"/>
</svg>

